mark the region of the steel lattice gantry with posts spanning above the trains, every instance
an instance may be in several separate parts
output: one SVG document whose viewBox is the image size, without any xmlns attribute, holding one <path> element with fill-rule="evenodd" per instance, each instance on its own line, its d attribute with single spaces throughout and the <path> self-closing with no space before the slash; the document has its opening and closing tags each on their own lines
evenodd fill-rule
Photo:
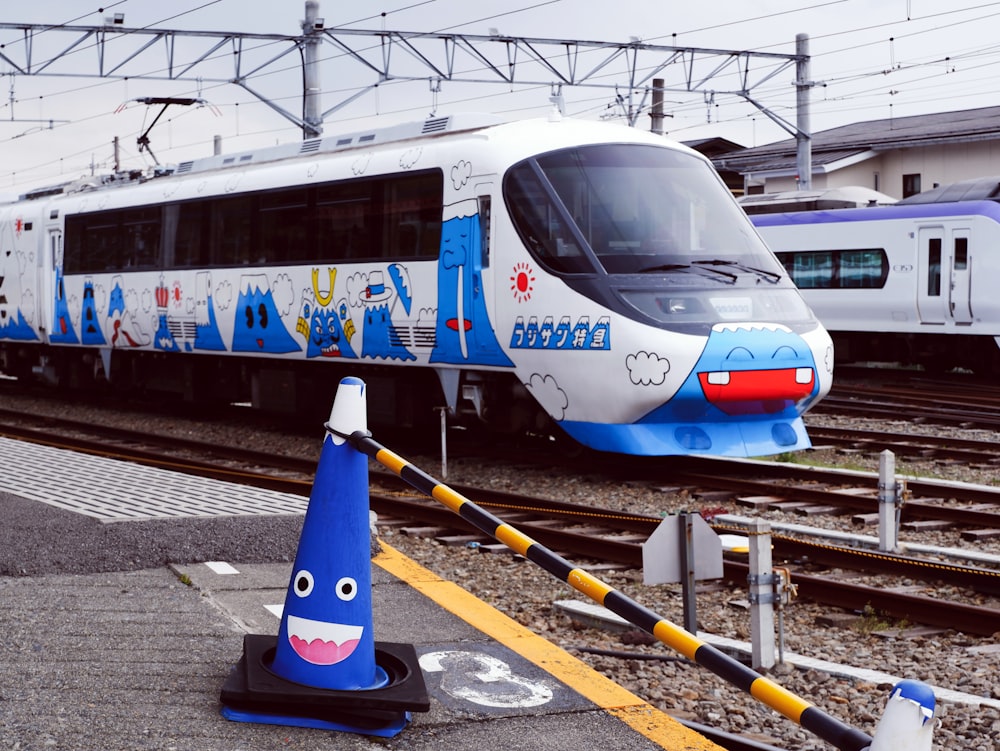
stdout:
<svg viewBox="0 0 1000 751">
<path fill-rule="evenodd" d="M 0 44 L 0 63 L 12 76 L 185 81 L 199 88 L 232 84 L 301 128 L 304 138 L 321 135 L 328 117 L 394 82 L 427 82 L 432 92 L 443 82 L 550 87 L 557 103 L 564 87 L 603 89 L 614 92 L 609 99 L 621 105 L 633 126 L 641 114 L 651 112 L 656 93 L 700 94 L 707 105 L 731 96 L 799 139 L 800 185 L 803 176 L 808 179 L 802 149 L 809 145 L 808 90 L 813 84 L 804 35 L 797 38 L 794 54 L 782 54 L 647 44 L 638 38 L 518 37 L 493 29 L 473 35 L 329 28 L 318 13 L 319 4 L 307 0 L 300 34 L 131 28 L 124 25 L 124 14 L 96 26 L 0 23 L 4 37 L 12 31 L 19 36 Z M 290 67 L 301 71 L 301 114 L 285 107 L 282 96 L 266 92 L 267 77 Z M 798 93 L 796 123 L 755 94 L 788 71 Z M 334 92 L 324 91 L 321 78 L 358 83 L 346 95 L 338 88 L 340 100 L 323 109 L 322 97 Z"/>
</svg>

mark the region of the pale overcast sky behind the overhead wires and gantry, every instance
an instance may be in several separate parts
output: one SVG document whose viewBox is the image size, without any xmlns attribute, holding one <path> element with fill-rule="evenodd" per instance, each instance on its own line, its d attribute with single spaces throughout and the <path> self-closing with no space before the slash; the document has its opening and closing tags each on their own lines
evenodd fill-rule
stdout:
<svg viewBox="0 0 1000 751">
<path fill-rule="evenodd" d="M 301 33 L 303 0 L 108 0 L 101 12 L 89 0 L 37 0 L 4 3 L 3 24 L 97 26 L 114 13 L 124 14 L 125 29 L 184 29 L 254 34 Z M 349 29 L 411 32 L 448 32 L 543 39 L 628 42 L 650 45 L 792 55 L 795 37 L 807 34 L 811 79 L 811 127 L 825 130 L 852 122 L 905 117 L 929 112 L 971 109 L 1000 104 L 1000 2 L 956 0 L 322 0 L 319 16 L 325 26 Z M 173 50 L 175 70 L 186 61 L 205 57 L 197 68 L 203 79 L 147 80 L 145 74 L 164 77 L 168 49 L 161 39 L 118 69 L 115 77 L 100 78 L 98 48 L 93 39 L 67 31 L 33 38 L 32 67 L 43 72 L 71 73 L 59 77 L 14 75 L 25 62 L 24 33 L 0 29 L 0 73 L 7 96 L 0 96 L 0 194 L 60 182 L 92 170 L 108 171 L 113 164 L 112 141 L 120 142 L 121 166 L 148 167 L 149 151 L 140 153 L 137 137 L 150 125 L 159 107 L 136 99 L 198 97 L 204 106 L 169 108 L 150 132 L 152 154 L 163 164 L 212 153 L 213 137 L 224 151 L 242 151 L 261 145 L 302 138 L 302 132 L 245 88 L 216 82 L 233 74 L 232 46 L 207 55 L 214 40 L 181 40 Z M 104 68 L 136 53 L 151 37 L 109 33 Z M 139 41 L 137 41 L 137 39 Z M 80 44 L 76 42 L 80 41 Z M 371 47 L 375 38 L 352 37 L 358 48 Z M 75 45 L 75 46 L 74 46 Z M 72 49 L 68 49 L 73 46 Z M 247 79 L 250 89 L 278 107 L 301 115 L 302 78 L 298 55 L 285 55 L 279 42 L 245 42 L 244 72 L 264 66 Z M 487 47 L 482 49 L 485 51 Z M 494 43 L 488 51 L 503 57 Z M 555 48 L 543 46 L 543 54 Z M 328 110 L 365 93 L 324 123 L 324 134 L 335 135 L 371 127 L 420 120 L 431 112 L 493 112 L 507 119 L 537 117 L 551 107 L 548 85 L 458 84 L 445 81 L 431 90 L 426 68 L 407 63 L 394 52 L 393 69 L 422 81 L 383 84 L 369 90 L 374 74 L 338 53 L 321 48 L 322 109 Z M 578 70 L 594 58 L 581 56 Z M 50 58 L 58 58 L 46 65 Z M 665 59 L 666 55 L 656 59 Z M 653 60 L 653 57 L 643 58 Z M 702 63 L 715 67 L 711 56 Z M 723 58 L 718 58 L 721 63 Z M 463 70 L 471 66 L 462 62 Z M 519 70 L 529 68 L 523 57 Z M 562 64 L 564 58 L 560 57 Z M 773 63 L 772 63 L 773 65 Z M 766 73 L 763 59 L 752 62 L 754 74 Z M 588 68 L 589 69 L 589 68 Z M 600 87 L 567 87 L 562 91 L 567 115 L 624 121 L 629 81 L 621 60 L 610 62 L 598 78 Z M 759 71 L 759 73 L 758 73 Z M 794 123 L 794 67 L 755 85 L 753 98 L 786 122 Z M 644 73 L 645 74 L 645 73 Z M 123 80 L 122 76 L 129 78 Z M 540 76 L 536 68 L 532 72 Z M 664 69 L 668 86 L 684 80 L 680 66 Z M 208 80 L 205 80 L 208 79 Z M 542 79 L 540 79 L 542 80 Z M 761 109 L 728 93 L 735 77 L 713 77 L 705 88 L 690 93 L 667 92 L 665 129 L 671 138 L 692 140 L 719 136 L 744 146 L 788 138 L 789 134 Z M 617 84 L 616 90 L 611 86 Z M 621 101 L 616 93 L 622 95 Z M 633 107 L 642 104 L 636 90 Z M 648 105 L 648 99 L 645 100 Z M 638 127 L 649 127 L 642 115 Z"/>
</svg>

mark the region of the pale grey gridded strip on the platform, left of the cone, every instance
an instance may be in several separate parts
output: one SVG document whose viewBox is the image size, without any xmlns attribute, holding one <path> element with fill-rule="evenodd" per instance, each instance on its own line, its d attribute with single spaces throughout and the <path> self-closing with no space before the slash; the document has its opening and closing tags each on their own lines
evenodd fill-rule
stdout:
<svg viewBox="0 0 1000 751">
<path fill-rule="evenodd" d="M 303 514 L 304 496 L 0 438 L 0 490 L 102 521 Z"/>
</svg>

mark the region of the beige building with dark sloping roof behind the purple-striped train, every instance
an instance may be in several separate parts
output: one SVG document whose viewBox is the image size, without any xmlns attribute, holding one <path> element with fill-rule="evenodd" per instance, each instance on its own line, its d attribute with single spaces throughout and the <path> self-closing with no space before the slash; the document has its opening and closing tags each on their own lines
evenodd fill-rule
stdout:
<svg viewBox="0 0 1000 751">
<path fill-rule="evenodd" d="M 794 138 L 712 158 L 746 193 L 796 190 Z M 895 198 L 1000 175 L 1000 107 L 843 125 L 812 136 L 813 190 L 860 186 Z"/>
</svg>

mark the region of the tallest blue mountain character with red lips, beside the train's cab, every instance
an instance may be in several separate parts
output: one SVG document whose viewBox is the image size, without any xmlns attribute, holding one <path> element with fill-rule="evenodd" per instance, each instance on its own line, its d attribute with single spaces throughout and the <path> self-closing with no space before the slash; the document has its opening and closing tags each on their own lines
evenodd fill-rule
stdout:
<svg viewBox="0 0 1000 751">
<path fill-rule="evenodd" d="M 478 206 L 468 200 L 448 208 L 454 216 L 441 227 L 436 344 L 430 361 L 513 367 L 486 311 Z"/>
</svg>

